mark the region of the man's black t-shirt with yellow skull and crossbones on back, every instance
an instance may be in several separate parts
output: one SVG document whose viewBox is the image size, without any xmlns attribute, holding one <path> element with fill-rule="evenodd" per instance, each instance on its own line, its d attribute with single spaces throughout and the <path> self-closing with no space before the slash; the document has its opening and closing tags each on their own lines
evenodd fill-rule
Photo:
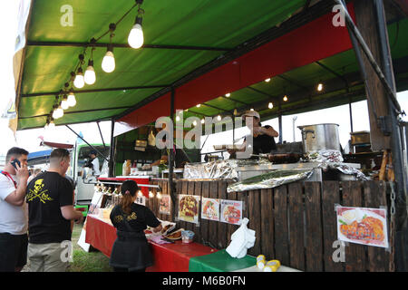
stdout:
<svg viewBox="0 0 408 290">
<path fill-rule="evenodd" d="M 39 174 L 27 186 L 30 243 L 48 244 L 71 240 L 71 222 L 61 207 L 73 205 L 73 185 L 57 172 Z"/>
</svg>

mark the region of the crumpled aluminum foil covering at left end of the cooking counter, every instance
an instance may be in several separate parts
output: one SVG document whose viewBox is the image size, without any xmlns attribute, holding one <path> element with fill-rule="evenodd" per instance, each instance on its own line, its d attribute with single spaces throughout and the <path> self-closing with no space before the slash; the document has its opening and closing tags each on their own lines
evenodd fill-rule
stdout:
<svg viewBox="0 0 408 290">
<path fill-rule="evenodd" d="M 217 160 L 207 163 L 187 163 L 184 179 L 237 179 L 238 167 L 271 164 L 269 160 Z"/>
</svg>

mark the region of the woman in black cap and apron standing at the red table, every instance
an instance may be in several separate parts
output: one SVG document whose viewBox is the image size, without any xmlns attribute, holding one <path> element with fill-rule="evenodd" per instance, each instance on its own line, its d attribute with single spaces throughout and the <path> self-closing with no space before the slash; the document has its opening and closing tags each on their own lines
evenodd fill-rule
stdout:
<svg viewBox="0 0 408 290">
<path fill-rule="evenodd" d="M 109 265 L 115 272 L 144 272 L 153 265 L 149 244 L 143 230 L 161 230 L 160 221 L 151 209 L 134 203 L 138 185 L 133 180 L 121 184 L 121 202 L 111 212 L 112 225 L 116 227 L 116 240 L 112 247 Z"/>
</svg>

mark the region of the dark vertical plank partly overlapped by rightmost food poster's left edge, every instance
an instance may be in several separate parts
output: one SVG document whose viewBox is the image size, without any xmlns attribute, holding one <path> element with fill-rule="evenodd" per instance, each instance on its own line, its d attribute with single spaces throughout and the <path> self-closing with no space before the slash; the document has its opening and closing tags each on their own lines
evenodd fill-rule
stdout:
<svg viewBox="0 0 408 290">
<path fill-rule="evenodd" d="M 323 215 L 323 261 L 326 272 L 343 272 L 344 263 L 334 262 L 333 253 L 338 248 L 333 247 L 337 240 L 337 220 L 335 204 L 340 204 L 340 189 L 338 181 L 323 181 L 322 215 Z"/>
</svg>

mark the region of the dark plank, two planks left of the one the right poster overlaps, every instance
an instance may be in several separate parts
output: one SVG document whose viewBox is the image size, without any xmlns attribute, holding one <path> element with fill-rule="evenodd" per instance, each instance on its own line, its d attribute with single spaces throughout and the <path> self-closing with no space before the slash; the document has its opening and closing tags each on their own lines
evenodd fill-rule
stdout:
<svg viewBox="0 0 408 290">
<path fill-rule="evenodd" d="M 289 199 L 289 266 L 305 271 L 303 187 L 301 183 L 296 182 L 289 184 L 287 190 Z"/>
</svg>

